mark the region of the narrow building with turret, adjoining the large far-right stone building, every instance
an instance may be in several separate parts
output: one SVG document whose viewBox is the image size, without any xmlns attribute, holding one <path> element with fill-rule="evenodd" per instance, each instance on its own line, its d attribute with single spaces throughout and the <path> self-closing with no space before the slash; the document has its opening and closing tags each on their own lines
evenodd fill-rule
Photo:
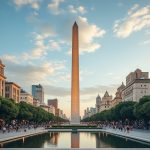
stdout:
<svg viewBox="0 0 150 150">
<path fill-rule="evenodd" d="M 118 105 L 122 102 L 122 91 L 125 88 L 124 83 L 122 82 L 121 86 L 118 87 L 115 98 L 111 101 L 111 107 Z"/>
</svg>

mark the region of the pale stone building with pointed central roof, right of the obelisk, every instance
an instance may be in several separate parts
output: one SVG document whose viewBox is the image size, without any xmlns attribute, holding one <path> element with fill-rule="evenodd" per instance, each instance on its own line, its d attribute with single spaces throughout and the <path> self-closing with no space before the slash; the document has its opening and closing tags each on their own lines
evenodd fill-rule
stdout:
<svg viewBox="0 0 150 150">
<path fill-rule="evenodd" d="M 100 103 L 100 112 L 111 108 L 112 96 L 106 91 Z"/>
</svg>

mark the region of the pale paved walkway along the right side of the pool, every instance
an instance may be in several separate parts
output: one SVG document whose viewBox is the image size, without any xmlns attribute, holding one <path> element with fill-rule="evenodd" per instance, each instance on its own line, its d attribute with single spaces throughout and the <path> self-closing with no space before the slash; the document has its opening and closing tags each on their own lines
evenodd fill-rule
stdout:
<svg viewBox="0 0 150 150">
<path fill-rule="evenodd" d="M 102 131 L 116 136 L 126 137 L 130 139 L 135 139 L 135 140 L 150 143 L 150 130 L 133 129 L 132 131 L 129 131 L 129 133 L 127 133 L 124 131 L 120 131 L 119 129 L 106 128 L 106 129 L 102 129 Z"/>
</svg>

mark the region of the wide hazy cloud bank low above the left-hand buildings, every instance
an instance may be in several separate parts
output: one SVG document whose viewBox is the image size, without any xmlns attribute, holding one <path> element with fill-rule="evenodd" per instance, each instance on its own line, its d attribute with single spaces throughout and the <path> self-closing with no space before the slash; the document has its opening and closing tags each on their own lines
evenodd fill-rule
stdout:
<svg viewBox="0 0 150 150">
<path fill-rule="evenodd" d="M 50 77 L 55 76 L 57 72 L 65 68 L 64 61 L 44 61 L 34 64 L 26 62 L 24 64 L 21 58 L 15 58 L 14 56 L 4 56 L 2 60 L 6 65 L 8 80 L 19 82 L 19 84 L 25 87 L 33 83 L 47 83 Z"/>
</svg>

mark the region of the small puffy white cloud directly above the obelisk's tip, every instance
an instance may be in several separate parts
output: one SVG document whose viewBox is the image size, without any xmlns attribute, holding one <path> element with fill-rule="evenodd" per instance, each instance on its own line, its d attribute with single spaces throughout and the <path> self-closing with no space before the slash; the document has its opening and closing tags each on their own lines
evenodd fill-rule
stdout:
<svg viewBox="0 0 150 150">
<path fill-rule="evenodd" d="M 76 13 L 85 14 L 87 12 L 85 7 L 83 7 L 83 6 L 74 7 L 73 5 L 69 5 L 68 10 L 70 13 L 73 13 L 73 14 L 76 14 Z"/>
</svg>

